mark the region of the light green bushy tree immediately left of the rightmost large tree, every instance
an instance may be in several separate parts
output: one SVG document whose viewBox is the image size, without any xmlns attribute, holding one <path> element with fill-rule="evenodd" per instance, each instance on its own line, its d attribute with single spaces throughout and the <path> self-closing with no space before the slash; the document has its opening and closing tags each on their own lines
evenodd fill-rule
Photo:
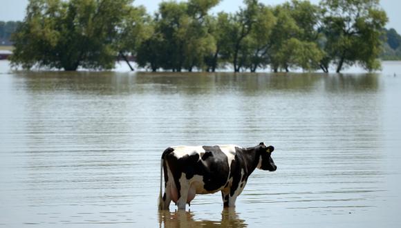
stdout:
<svg viewBox="0 0 401 228">
<path fill-rule="evenodd" d="M 317 31 L 319 8 L 309 1 L 292 0 L 274 8 L 277 17 L 271 36 L 271 66 L 279 69 L 315 70 L 324 57 Z"/>
</svg>

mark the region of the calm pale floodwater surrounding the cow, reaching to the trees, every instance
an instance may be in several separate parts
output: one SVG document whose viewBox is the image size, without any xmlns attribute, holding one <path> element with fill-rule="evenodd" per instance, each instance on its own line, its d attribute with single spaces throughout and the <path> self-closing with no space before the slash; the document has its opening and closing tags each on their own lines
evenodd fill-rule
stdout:
<svg viewBox="0 0 401 228">
<path fill-rule="evenodd" d="M 401 64 L 383 73 L 26 73 L 0 65 L 0 227 L 399 227 Z M 4 70 L 7 68 L 7 70 Z M 177 144 L 273 145 L 235 209 L 159 212 Z"/>
</svg>

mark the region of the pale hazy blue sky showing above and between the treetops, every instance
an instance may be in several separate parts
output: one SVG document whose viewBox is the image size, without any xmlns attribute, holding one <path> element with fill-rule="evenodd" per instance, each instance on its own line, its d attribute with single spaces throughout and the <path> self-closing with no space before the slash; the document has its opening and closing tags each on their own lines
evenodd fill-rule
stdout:
<svg viewBox="0 0 401 228">
<path fill-rule="evenodd" d="M 243 0 L 223 0 L 219 6 L 212 11 L 234 12 L 242 5 Z M 286 2 L 287 0 L 260 0 L 267 5 L 276 5 Z M 158 8 L 158 3 L 162 0 L 136 0 L 135 5 L 144 5 L 149 12 L 154 12 Z M 319 0 L 310 0 L 310 2 L 318 3 Z M 381 0 L 381 5 L 386 10 L 389 17 L 388 28 L 395 28 L 401 32 L 401 1 L 400 0 Z M 0 0 L 0 21 L 21 21 L 24 19 L 25 8 L 28 0 Z"/>
</svg>

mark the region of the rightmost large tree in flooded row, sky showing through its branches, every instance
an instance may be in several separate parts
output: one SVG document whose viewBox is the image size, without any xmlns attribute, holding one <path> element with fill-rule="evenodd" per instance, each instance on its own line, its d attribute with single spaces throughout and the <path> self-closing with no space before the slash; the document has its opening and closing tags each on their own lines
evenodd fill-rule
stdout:
<svg viewBox="0 0 401 228">
<path fill-rule="evenodd" d="M 380 68 L 377 57 L 382 52 L 380 37 L 387 17 L 379 0 L 323 0 L 321 8 L 328 55 L 325 64 L 333 61 L 337 73 L 355 63 L 367 70 Z"/>
</svg>

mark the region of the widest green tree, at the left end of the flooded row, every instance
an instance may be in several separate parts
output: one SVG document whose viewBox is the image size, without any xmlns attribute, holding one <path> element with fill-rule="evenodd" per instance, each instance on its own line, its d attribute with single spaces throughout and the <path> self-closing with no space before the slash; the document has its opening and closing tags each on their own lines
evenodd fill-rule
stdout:
<svg viewBox="0 0 401 228">
<path fill-rule="evenodd" d="M 30 0 L 12 38 L 13 66 L 113 68 L 132 0 Z"/>
</svg>

